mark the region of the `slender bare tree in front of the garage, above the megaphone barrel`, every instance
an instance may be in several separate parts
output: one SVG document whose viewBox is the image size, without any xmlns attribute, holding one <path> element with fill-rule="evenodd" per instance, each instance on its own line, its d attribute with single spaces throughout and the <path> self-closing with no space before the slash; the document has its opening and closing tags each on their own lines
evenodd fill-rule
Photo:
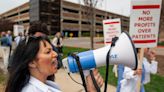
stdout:
<svg viewBox="0 0 164 92">
<path fill-rule="evenodd" d="M 102 2 L 103 0 L 83 0 L 87 19 L 88 19 L 88 24 L 90 25 L 89 29 L 90 29 L 91 49 L 94 49 L 95 7 L 97 3 L 100 1 Z"/>
</svg>

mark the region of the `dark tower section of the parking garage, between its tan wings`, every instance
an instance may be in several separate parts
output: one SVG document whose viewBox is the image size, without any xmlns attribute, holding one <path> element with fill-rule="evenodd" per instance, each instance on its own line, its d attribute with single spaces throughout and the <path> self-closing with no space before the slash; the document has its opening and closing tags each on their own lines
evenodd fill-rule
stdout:
<svg viewBox="0 0 164 92">
<path fill-rule="evenodd" d="M 42 21 L 51 34 L 60 31 L 60 0 L 30 0 L 30 22 Z"/>
</svg>

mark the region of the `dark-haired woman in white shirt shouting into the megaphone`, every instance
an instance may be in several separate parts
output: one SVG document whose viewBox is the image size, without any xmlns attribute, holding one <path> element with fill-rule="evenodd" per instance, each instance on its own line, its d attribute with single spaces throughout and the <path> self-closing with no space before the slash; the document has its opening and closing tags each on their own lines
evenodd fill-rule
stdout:
<svg viewBox="0 0 164 92">
<path fill-rule="evenodd" d="M 57 57 L 47 37 L 27 36 L 13 53 L 13 72 L 9 75 L 5 92 L 61 92 L 54 81 L 47 80 L 48 76 L 57 73 Z M 101 87 L 102 77 L 97 70 L 93 74 Z M 88 92 L 96 92 L 90 75 L 86 81 Z"/>
</svg>

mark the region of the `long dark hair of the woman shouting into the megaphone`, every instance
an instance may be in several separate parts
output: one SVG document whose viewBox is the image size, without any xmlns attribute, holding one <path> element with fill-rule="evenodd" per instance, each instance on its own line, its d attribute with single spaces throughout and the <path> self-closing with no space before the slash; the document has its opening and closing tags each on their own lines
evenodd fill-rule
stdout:
<svg viewBox="0 0 164 92">
<path fill-rule="evenodd" d="M 29 63 L 36 59 L 40 48 L 40 42 L 50 41 L 43 37 L 27 37 L 19 43 L 13 53 L 11 60 L 11 74 L 5 92 L 21 92 L 22 88 L 29 82 L 30 71 Z"/>
</svg>

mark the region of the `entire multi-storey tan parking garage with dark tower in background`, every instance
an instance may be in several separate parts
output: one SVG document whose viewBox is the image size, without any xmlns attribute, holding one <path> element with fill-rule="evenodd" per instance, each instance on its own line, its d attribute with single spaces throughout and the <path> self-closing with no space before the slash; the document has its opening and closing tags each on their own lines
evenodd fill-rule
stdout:
<svg viewBox="0 0 164 92">
<path fill-rule="evenodd" d="M 94 36 L 103 35 L 102 20 L 104 19 L 120 18 L 122 30 L 129 30 L 129 17 L 98 9 L 94 11 Z M 87 12 L 85 6 L 65 0 L 30 0 L 30 2 L 1 14 L 0 18 L 10 19 L 16 24 L 24 25 L 27 30 L 30 22 L 40 20 L 48 24 L 51 34 L 60 31 L 66 37 L 84 37 L 90 36 L 91 30 Z M 162 13 L 159 35 L 161 39 L 164 39 L 163 20 Z"/>
</svg>

